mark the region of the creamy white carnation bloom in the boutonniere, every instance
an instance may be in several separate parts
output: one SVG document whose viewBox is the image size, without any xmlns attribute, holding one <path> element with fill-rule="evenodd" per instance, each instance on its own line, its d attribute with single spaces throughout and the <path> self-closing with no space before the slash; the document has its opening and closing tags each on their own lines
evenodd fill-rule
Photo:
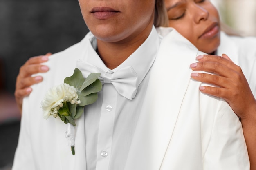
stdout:
<svg viewBox="0 0 256 170">
<path fill-rule="evenodd" d="M 54 86 L 47 91 L 41 102 L 43 109 L 43 117 L 48 119 L 51 115 L 57 117 L 59 108 L 63 107 L 63 102 L 71 102 L 79 104 L 76 88 L 69 84 L 60 84 Z"/>
</svg>

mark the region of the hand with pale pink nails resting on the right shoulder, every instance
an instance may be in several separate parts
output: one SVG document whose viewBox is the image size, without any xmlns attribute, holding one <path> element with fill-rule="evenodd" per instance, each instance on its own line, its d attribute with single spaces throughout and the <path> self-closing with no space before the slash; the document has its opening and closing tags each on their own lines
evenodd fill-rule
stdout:
<svg viewBox="0 0 256 170">
<path fill-rule="evenodd" d="M 222 57 L 200 55 L 197 60 L 199 62 L 190 65 L 193 71 L 215 74 L 193 72 L 191 77 L 197 81 L 217 86 L 201 86 L 200 91 L 225 99 L 241 119 L 249 119 L 252 110 L 255 110 L 256 100 L 242 69 L 225 54 Z"/>
</svg>

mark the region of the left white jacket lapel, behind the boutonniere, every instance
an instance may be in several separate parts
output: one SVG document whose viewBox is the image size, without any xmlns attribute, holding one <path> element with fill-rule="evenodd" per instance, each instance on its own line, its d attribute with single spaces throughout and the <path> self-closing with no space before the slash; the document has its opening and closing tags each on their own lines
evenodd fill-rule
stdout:
<svg viewBox="0 0 256 170">
<path fill-rule="evenodd" d="M 88 40 L 88 36 L 86 36 L 79 44 L 73 47 L 70 51 L 65 53 L 65 64 L 63 66 L 64 69 L 59 72 L 60 75 L 65 75 L 65 77 L 69 77 L 73 74 L 74 68 L 77 68 L 77 61 L 86 57 L 83 49 L 86 49 L 85 46 L 89 46 L 90 41 Z M 56 62 L 55 62 L 56 63 Z M 56 67 L 58 69 L 58 67 Z M 64 79 L 61 79 L 64 81 Z M 58 147 L 60 150 L 59 158 L 62 165 L 62 170 L 86 170 L 86 155 L 85 155 L 85 120 L 84 114 L 79 117 L 79 119 L 75 119 L 76 127 L 75 127 L 75 155 L 72 155 L 72 151 L 70 146 L 67 144 L 67 138 L 65 138 L 65 130 L 67 125 L 63 123 L 61 120 L 56 119 L 56 134 L 58 136 L 57 139 Z M 69 162 L 69 163 L 67 163 Z M 67 166 L 72 165 L 72 167 Z"/>
</svg>

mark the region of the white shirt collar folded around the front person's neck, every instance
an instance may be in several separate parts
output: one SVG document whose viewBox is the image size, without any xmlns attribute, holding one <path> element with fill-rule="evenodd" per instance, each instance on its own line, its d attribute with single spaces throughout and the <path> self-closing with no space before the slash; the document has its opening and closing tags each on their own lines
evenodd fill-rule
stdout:
<svg viewBox="0 0 256 170">
<path fill-rule="evenodd" d="M 92 35 L 92 33 L 88 33 L 87 40 L 90 41 L 90 46 L 87 48 L 88 50 L 85 51 L 85 53 L 88 54 L 83 55 L 84 58 L 82 60 L 89 62 L 90 64 L 102 69 L 103 71 L 106 71 L 106 73 L 110 71 L 110 69 L 105 66 L 99 55 L 96 53 L 96 37 Z M 139 86 L 151 68 L 153 62 L 155 61 L 160 42 L 161 38 L 153 26 L 151 33 L 145 42 L 141 44 L 141 46 L 139 46 L 139 48 L 134 53 L 132 53 L 132 55 L 130 55 L 122 64 L 117 66 L 117 68 L 113 69 L 112 71 L 116 72 L 121 68 L 125 68 L 126 66 L 132 66 L 138 76 L 137 85 Z"/>
</svg>

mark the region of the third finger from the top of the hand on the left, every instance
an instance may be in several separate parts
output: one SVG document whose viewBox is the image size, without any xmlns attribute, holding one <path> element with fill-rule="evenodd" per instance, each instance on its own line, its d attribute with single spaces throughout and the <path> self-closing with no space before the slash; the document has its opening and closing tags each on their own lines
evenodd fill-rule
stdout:
<svg viewBox="0 0 256 170">
<path fill-rule="evenodd" d="M 16 89 L 17 90 L 24 89 L 24 88 L 32 86 L 33 84 L 40 83 L 42 81 L 43 81 L 42 76 L 26 77 L 26 78 L 22 78 L 22 79 L 17 79 Z"/>
</svg>

